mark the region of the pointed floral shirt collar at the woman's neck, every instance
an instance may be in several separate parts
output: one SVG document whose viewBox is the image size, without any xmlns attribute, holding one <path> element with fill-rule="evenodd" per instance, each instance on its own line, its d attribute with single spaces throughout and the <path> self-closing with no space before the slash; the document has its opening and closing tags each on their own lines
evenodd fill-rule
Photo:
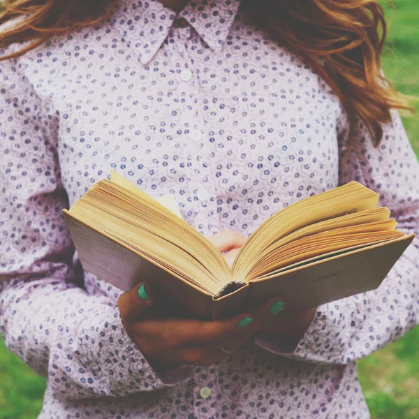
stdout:
<svg viewBox="0 0 419 419">
<path fill-rule="evenodd" d="M 212 50 L 226 42 L 240 0 L 190 1 L 177 15 L 157 0 L 121 0 L 112 23 L 147 64 L 166 40 L 176 17 L 184 17 Z"/>
</svg>

